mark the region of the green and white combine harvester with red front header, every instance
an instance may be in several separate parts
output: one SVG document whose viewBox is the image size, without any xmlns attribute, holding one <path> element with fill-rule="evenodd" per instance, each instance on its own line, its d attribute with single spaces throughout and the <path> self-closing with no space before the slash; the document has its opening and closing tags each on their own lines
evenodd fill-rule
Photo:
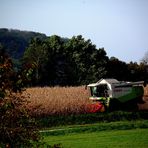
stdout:
<svg viewBox="0 0 148 148">
<path fill-rule="evenodd" d="M 89 84 L 91 111 L 135 110 L 144 103 L 144 81 L 123 82 L 116 79 L 101 79 Z"/>
</svg>

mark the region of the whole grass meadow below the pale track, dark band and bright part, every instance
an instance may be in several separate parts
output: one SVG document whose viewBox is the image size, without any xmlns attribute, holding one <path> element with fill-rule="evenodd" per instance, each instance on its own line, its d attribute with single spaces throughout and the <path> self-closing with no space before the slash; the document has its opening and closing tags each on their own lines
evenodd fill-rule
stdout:
<svg viewBox="0 0 148 148">
<path fill-rule="evenodd" d="M 64 148 L 148 147 L 148 120 L 63 126 L 41 133 L 46 144 Z"/>
</svg>

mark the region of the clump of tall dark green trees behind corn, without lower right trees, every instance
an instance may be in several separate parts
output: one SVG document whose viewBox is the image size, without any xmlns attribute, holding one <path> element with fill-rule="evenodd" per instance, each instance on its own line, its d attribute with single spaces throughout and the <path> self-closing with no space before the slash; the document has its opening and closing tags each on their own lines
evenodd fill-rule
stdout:
<svg viewBox="0 0 148 148">
<path fill-rule="evenodd" d="M 51 36 L 32 40 L 24 53 L 25 63 L 36 64 L 38 85 L 84 85 L 107 73 L 105 50 L 97 50 L 81 35 L 63 40 Z"/>
</svg>

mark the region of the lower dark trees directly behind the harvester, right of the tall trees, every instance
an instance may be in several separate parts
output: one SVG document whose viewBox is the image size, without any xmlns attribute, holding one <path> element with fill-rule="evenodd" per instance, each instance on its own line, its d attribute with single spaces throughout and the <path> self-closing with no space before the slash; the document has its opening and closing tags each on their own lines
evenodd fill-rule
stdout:
<svg viewBox="0 0 148 148">
<path fill-rule="evenodd" d="M 148 66 L 144 63 L 125 63 L 115 57 L 111 57 L 107 63 L 107 77 L 121 81 L 147 81 Z"/>
</svg>

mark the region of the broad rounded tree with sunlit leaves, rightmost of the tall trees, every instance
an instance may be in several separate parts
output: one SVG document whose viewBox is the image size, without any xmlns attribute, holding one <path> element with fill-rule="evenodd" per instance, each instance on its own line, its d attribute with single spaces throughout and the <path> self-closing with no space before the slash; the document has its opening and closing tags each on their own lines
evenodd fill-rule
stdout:
<svg viewBox="0 0 148 148">
<path fill-rule="evenodd" d="M 72 64 L 76 84 L 87 84 L 105 76 L 108 57 L 105 50 L 96 49 L 91 40 L 85 40 L 81 35 L 72 37 L 66 43 L 66 54 Z"/>
</svg>

